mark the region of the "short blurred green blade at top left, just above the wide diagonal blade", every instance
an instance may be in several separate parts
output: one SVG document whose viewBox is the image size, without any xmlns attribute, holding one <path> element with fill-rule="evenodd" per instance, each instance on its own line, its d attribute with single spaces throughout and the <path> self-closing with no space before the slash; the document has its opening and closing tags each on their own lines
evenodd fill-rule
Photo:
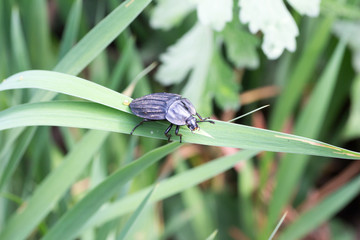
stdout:
<svg viewBox="0 0 360 240">
<path fill-rule="evenodd" d="M 65 56 L 76 41 L 80 27 L 82 4 L 82 0 L 76 0 L 71 6 L 60 43 L 59 59 Z"/>
</svg>

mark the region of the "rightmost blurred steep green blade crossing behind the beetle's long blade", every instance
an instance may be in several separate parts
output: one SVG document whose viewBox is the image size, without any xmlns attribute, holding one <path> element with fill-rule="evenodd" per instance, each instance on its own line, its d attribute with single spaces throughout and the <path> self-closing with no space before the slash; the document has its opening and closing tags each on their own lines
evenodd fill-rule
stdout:
<svg viewBox="0 0 360 240">
<path fill-rule="evenodd" d="M 330 59 L 323 75 L 319 79 L 306 108 L 301 113 L 299 120 L 295 125 L 295 133 L 311 138 L 316 138 L 320 133 L 335 87 L 345 46 L 345 41 L 342 41 L 336 48 L 336 51 Z M 308 159 L 308 156 L 304 155 L 286 155 L 281 161 L 277 174 L 277 186 L 273 198 L 270 201 L 268 231 L 270 231 L 277 222 L 277 218 L 283 206 L 287 203 L 293 193 L 293 189 L 298 183 Z"/>
</svg>

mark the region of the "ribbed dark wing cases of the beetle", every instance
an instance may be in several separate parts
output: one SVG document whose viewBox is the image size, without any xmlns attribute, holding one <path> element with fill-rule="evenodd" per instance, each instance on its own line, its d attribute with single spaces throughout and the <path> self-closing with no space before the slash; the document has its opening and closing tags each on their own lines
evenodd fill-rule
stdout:
<svg viewBox="0 0 360 240">
<path fill-rule="evenodd" d="M 138 117 L 149 120 L 164 120 L 169 106 L 181 99 L 179 94 L 153 93 L 134 99 L 129 107 Z"/>
</svg>

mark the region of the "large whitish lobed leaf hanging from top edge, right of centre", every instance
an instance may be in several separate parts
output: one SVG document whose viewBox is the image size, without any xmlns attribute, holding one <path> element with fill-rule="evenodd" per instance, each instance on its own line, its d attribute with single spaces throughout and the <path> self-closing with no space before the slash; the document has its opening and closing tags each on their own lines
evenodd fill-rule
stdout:
<svg viewBox="0 0 360 240">
<path fill-rule="evenodd" d="M 284 49 L 295 51 L 299 34 L 294 19 L 282 0 L 239 0 L 240 21 L 250 31 L 264 34 L 262 49 L 269 59 L 278 58 Z"/>
</svg>

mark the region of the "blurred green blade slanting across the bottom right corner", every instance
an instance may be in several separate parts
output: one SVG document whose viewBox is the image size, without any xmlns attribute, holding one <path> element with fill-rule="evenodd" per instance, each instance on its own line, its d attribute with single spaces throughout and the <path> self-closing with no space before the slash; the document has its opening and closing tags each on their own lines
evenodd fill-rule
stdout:
<svg viewBox="0 0 360 240">
<path fill-rule="evenodd" d="M 312 209 L 300 215 L 294 223 L 282 232 L 278 239 L 301 239 L 343 209 L 346 204 L 359 194 L 359 191 L 360 176 L 326 197 Z"/>
</svg>

